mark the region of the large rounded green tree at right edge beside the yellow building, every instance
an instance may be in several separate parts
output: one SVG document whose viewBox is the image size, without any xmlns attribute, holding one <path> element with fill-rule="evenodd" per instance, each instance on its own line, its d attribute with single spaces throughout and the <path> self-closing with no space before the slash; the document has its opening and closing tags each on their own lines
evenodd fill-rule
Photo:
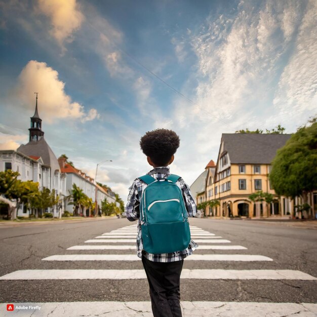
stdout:
<svg viewBox="0 0 317 317">
<path fill-rule="evenodd" d="M 301 127 L 278 150 L 269 174 L 275 192 L 308 203 L 308 193 L 317 189 L 317 122 Z"/>
</svg>

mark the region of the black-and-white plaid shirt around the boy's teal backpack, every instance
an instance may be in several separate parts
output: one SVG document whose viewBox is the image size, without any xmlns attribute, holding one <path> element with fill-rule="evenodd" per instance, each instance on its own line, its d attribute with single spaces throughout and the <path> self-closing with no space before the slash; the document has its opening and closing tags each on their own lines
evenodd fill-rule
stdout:
<svg viewBox="0 0 317 317">
<path fill-rule="evenodd" d="M 154 177 L 155 179 L 164 179 L 171 175 L 169 167 L 156 167 L 148 175 Z M 185 206 L 189 217 L 193 217 L 196 214 L 196 204 L 193 197 L 191 196 L 189 186 L 180 177 L 176 185 L 181 189 L 184 197 Z M 142 197 L 143 190 L 146 188 L 145 184 L 140 179 L 135 179 L 132 186 L 129 188 L 128 204 L 126 206 L 126 216 L 128 220 L 134 221 L 138 220 L 137 228 L 137 255 L 142 258 L 142 255 L 150 261 L 153 262 L 174 262 L 183 260 L 188 255 L 198 247 L 198 245 L 190 240 L 189 246 L 183 251 L 177 251 L 173 253 L 163 253 L 163 254 L 151 254 L 143 250 L 143 242 L 141 235 L 141 221 L 140 221 L 140 199 Z"/>
</svg>

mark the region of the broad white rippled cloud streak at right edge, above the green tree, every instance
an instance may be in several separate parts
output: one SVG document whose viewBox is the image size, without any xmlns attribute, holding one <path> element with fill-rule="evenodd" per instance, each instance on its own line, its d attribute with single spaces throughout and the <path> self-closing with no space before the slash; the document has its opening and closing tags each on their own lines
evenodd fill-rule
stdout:
<svg viewBox="0 0 317 317">
<path fill-rule="evenodd" d="M 310 1 L 296 38 L 296 47 L 280 77 L 273 103 L 281 115 L 304 120 L 317 105 L 317 4 Z"/>
</svg>

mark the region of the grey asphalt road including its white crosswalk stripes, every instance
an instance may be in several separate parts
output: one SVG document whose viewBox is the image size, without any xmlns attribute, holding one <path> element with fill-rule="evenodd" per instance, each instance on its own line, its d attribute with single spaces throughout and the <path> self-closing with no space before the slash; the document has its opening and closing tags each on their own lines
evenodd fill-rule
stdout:
<svg viewBox="0 0 317 317">
<path fill-rule="evenodd" d="M 134 225 L 125 218 L 1 225 L 0 314 L 150 316 Z M 184 261 L 184 316 L 317 315 L 317 230 L 196 218 L 190 225 L 200 248 Z M 88 248 L 98 249 L 80 250 Z M 41 310 L 7 312 L 9 303 Z"/>
</svg>

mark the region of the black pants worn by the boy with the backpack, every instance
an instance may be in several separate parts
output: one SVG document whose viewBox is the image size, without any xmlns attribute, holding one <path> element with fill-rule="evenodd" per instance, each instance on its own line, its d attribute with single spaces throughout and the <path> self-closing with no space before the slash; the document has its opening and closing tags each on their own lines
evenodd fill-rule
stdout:
<svg viewBox="0 0 317 317">
<path fill-rule="evenodd" d="M 180 273 L 183 262 L 153 262 L 142 256 L 154 317 L 181 317 Z"/>
</svg>

